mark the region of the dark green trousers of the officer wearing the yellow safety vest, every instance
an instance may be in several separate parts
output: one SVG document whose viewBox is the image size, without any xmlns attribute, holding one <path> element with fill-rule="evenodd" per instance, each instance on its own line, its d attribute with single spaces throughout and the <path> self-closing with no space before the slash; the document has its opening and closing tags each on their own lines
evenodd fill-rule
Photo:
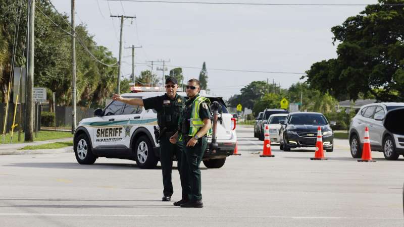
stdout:
<svg viewBox="0 0 404 227">
<path fill-rule="evenodd" d="M 204 157 L 207 145 L 208 139 L 205 136 L 198 139 L 198 142 L 193 147 L 187 147 L 184 141 L 184 154 L 188 167 L 187 170 L 190 186 L 190 193 L 188 198 L 191 201 L 202 199 L 199 164 Z"/>
</svg>

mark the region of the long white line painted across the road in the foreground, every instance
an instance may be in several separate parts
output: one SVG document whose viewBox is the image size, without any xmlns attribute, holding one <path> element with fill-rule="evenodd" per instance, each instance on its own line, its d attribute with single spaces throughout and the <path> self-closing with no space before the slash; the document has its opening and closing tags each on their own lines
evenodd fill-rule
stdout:
<svg viewBox="0 0 404 227">
<path fill-rule="evenodd" d="M 201 217 L 223 218 L 223 216 L 200 215 L 148 215 L 148 214 L 73 214 L 73 213 L 0 213 L 0 216 L 62 216 L 62 217 Z M 230 218 L 286 218 L 286 219 L 402 219 L 401 217 L 338 217 L 338 216 L 226 216 Z"/>
</svg>

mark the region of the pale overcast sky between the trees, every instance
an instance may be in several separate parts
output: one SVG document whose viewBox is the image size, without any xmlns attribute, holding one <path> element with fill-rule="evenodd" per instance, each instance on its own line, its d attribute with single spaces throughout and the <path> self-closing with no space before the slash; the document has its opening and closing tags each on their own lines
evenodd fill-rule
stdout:
<svg viewBox="0 0 404 227">
<path fill-rule="evenodd" d="M 71 1 L 51 2 L 58 11 L 70 15 Z M 375 4 L 377 0 L 197 2 Z M 136 16 L 134 20 L 126 19 L 123 26 L 124 47 L 142 46 L 135 49 L 135 62 L 139 63 L 135 65 L 136 76 L 151 69 L 145 64 L 147 61 L 166 60 L 169 61 L 166 63 L 168 70 L 177 66 L 196 67 L 183 68 L 184 81 L 187 81 L 198 78 L 206 62 L 211 93 L 229 98 L 240 94 L 242 87 L 255 80 L 268 79 L 282 88 L 302 82 L 300 77 L 313 63 L 336 58 L 331 28 L 364 9 L 364 6 L 245 6 L 76 0 L 76 24 L 85 24 L 95 42 L 108 47 L 118 59 L 120 18 L 111 18 L 110 15 Z M 123 48 L 121 75 L 127 78 L 132 72 L 131 54 L 131 48 Z M 162 77 L 163 72 L 156 71 L 156 65 L 154 72 Z"/>
</svg>

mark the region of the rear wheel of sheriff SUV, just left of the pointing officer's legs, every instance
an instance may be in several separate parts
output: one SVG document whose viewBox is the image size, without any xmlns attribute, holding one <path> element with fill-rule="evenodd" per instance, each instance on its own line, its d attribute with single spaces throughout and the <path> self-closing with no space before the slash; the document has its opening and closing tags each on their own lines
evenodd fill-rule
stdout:
<svg viewBox="0 0 404 227">
<path fill-rule="evenodd" d="M 134 146 L 136 154 L 136 164 L 140 168 L 154 168 L 157 165 L 158 159 L 155 156 L 153 146 L 146 136 L 141 136 Z"/>
</svg>

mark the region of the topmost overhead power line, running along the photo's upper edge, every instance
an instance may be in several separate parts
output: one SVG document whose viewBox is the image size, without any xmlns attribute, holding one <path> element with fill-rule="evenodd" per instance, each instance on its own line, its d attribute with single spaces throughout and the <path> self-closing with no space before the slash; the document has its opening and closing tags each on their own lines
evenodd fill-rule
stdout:
<svg viewBox="0 0 404 227">
<path fill-rule="evenodd" d="M 151 1 L 151 0 L 105 0 L 135 3 L 174 3 L 174 4 L 204 4 L 204 5 L 239 5 L 239 6 L 373 6 L 377 4 L 284 4 L 284 3 L 219 3 L 219 2 L 184 2 L 184 1 Z M 404 4 L 383 4 L 380 6 L 404 6 Z"/>
</svg>

